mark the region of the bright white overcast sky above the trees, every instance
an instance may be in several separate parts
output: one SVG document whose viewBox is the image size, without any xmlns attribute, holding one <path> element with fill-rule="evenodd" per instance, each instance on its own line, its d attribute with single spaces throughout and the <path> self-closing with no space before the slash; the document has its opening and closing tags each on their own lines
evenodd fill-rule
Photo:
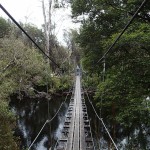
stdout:
<svg viewBox="0 0 150 150">
<path fill-rule="evenodd" d="M 47 0 L 45 0 L 47 1 Z M 2 6 L 15 18 L 17 22 L 31 23 L 41 28 L 44 23 L 41 0 L 0 0 Z M 63 41 L 64 30 L 78 29 L 80 24 L 74 24 L 71 19 L 71 8 L 55 11 L 53 20 L 56 23 L 55 35 L 58 41 Z M 8 18 L 0 9 L 0 16 Z"/>
</svg>

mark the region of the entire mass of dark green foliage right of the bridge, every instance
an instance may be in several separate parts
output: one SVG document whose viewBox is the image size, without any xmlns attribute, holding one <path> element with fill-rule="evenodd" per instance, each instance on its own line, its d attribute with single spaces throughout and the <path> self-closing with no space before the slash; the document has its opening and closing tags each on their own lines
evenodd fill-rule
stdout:
<svg viewBox="0 0 150 150">
<path fill-rule="evenodd" d="M 147 1 L 128 30 L 106 56 L 105 82 L 103 62 L 97 61 L 113 44 L 137 8 L 141 0 L 72 1 L 73 17 L 85 15 L 77 42 L 83 49 L 83 66 L 91 80 L 85 80 L 96 88 L 95 103 L 102 109 L 102 117 L 109 122 L 115 136 L 115 128 L 121 126 L 127 137 L 132 137 L 126 148 L 146 149 L 144 130 L 150 130 L 150 3 Z M 96 79 L 96 77 L 99 77 Z M 95 78 L 95 79 L 94 79 Z M 135 136 L 135 130 L 139 134 Z M 117 132 L 117 131 L 116 131 Z M 119 132 L 119 131 L 118 131 Z M 117 135 L 117 133 L 116 133 Z"/>
</svg>

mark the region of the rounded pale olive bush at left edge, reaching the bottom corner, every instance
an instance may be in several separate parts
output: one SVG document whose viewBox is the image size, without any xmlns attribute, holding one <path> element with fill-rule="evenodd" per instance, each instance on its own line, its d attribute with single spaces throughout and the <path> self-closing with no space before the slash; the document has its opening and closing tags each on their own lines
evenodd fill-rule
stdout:
<svg viewBox="0 0 150 150">
<path fill-rule="evenodd" d="M 30 49 L 19 40 L 3 38 L 0 40 L 0 149 L 17 150 L 12 128 L 12 112 L 8 110 L 9 96 L 17 91 L 26 91 L 30 95 L 34 78 L 45 78 L 45 60 L 35 49 Z"/>
</svg>

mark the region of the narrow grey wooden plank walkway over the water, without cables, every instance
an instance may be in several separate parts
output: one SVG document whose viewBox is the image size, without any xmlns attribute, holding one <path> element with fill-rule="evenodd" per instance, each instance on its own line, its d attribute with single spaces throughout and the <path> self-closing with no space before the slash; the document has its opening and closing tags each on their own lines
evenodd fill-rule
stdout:
<svg viewBox="0 0 150 150">
<path fill-rule="evenodd" d="M 94 150 L 80 74 L 80 69 L 77 67 L 75 88 L 72 91 L 62 135 L 55 150 Z"/>
</svg>

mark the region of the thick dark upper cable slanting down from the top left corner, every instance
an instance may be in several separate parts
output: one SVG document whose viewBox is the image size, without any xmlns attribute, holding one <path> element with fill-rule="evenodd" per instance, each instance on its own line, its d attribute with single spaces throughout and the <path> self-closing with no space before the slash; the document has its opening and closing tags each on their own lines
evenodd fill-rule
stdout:
<svg viewBox="0 0 150 150">
<path fill-rule="evenodd" d="M 10 15 L 10 13 L 0 4 L 0 8 L 7 14 L 7 16 L 18 26 L 18 28 L 32 41 L 32 43 L 53 63 L 55 64 L 58 68 L 60 66 L 50 57 L 48 56 L 42 48 L 31 38 L 31 36 L 21 27 L 21 25 Z"/>
</svg>

